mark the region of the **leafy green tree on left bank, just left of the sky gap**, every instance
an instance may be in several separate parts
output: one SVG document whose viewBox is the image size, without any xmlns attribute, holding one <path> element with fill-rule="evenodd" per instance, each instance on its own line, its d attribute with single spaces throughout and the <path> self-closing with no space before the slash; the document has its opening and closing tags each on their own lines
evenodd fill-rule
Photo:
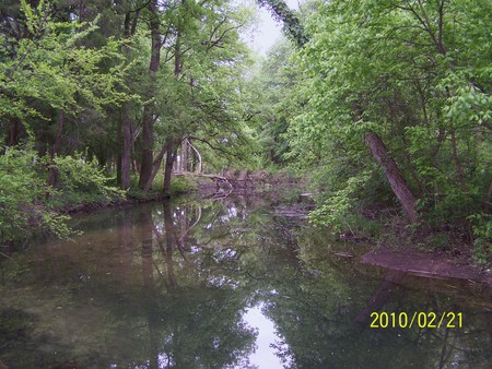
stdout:
<svg viewBox="0 0 492 369">
<path fill-rule="evenodd" d="M 203 159 L 213 151 L 237 157 L 236 147 L 248 144 L 248 111 L 241 95 L 249 59 L 238 32 L 250 17 L 247 8 L 229 1 L 176 3 L 174 12 L 164 14 L 162 53 L 166 57 L 156 74 L 153 103 L 159 143 L 154 151 L 159 153 L 143 187 L 145 192 L 164 156 L 164 192 L 168 194 L 178 155 L 185 169 L 192 156 L 202 158 L 200 152 L 206 152 Z"/>
</svg>

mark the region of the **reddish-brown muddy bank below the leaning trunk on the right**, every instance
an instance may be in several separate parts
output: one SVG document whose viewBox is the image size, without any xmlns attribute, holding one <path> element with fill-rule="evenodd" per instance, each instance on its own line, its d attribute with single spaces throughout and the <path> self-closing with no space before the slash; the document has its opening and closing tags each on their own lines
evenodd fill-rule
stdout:
<svg viewBox="0 0 492 369">
<path fill-rule="evenodd" d="M 492 287 L 490 257 L 477 258 L 472 239 L 452 229 L 432 229 L 426 224 L 409 226 L 395 210 L 379 210 L 372 215 L 365 217 L 365 228 L 335 236 L 348 250 L 337 250 L 337 257 L 356 258 L 361 263 L 406 275 L 470 281 Z M 359 219 L 363 222 L 364 218 Z"/>
</svg>

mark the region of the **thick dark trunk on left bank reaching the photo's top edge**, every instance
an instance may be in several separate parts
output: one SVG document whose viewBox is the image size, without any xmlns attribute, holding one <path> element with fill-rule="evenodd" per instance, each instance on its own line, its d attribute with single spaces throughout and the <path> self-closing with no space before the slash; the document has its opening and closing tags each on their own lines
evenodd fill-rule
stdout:
<svg viewBox="0 0 492 369">
<path fill-rule="evenodd" d="M 148 5 L 151 13 L 150 28 L 152 38 L 151 60 L 149 66 L 149 88 L 148 99 L 152 99 L 155 94 L 155 79 L 161 62 L 161 34 L 159 32 L 160 22 L 157 14 L 157 1 L 151 1 Z M 142 145 L 139 187 L 143 187 L 152 176 L 153 150 L 154 150 L 154 106 L 149 103 L 143 108 L 142 118 Z"/>
</svg>

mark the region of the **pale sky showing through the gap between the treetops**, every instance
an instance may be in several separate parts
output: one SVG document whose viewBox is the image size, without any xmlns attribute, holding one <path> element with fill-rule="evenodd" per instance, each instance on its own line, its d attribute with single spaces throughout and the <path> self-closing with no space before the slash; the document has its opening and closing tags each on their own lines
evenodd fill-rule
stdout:
<svg viewBox="0 0 492 369">
<path fill-rule="evenodd" d="M 285 1 L 291 9 L 298 9 L 298 0 Z M 259 23 L 253 35 L 247 36 L 248 44 L 260 55 L 265 56 L 268 49 L 281 37 L 282 24 L 273 20 L 267 9 L 259 8 Z"/>
</svg>

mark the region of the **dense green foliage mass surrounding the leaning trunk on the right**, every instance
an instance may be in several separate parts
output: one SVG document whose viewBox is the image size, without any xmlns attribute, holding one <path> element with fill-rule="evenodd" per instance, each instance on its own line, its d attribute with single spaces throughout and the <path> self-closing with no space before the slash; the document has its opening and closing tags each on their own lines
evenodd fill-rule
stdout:
<svg viewBox="0 0 492 369">
<path fill-rule="evenodd" d="M 307 16 L 295 87 L 304 104 L 290 121 L 288 155 L 321 192 L 316 224 L 341 228 L 361 204 L 393 198 L 364 144 L 370 131 L 431 226 L 466 229 L 490 202 L 491 3 L 438 4 L 333 0 Z"/>
</svg>

